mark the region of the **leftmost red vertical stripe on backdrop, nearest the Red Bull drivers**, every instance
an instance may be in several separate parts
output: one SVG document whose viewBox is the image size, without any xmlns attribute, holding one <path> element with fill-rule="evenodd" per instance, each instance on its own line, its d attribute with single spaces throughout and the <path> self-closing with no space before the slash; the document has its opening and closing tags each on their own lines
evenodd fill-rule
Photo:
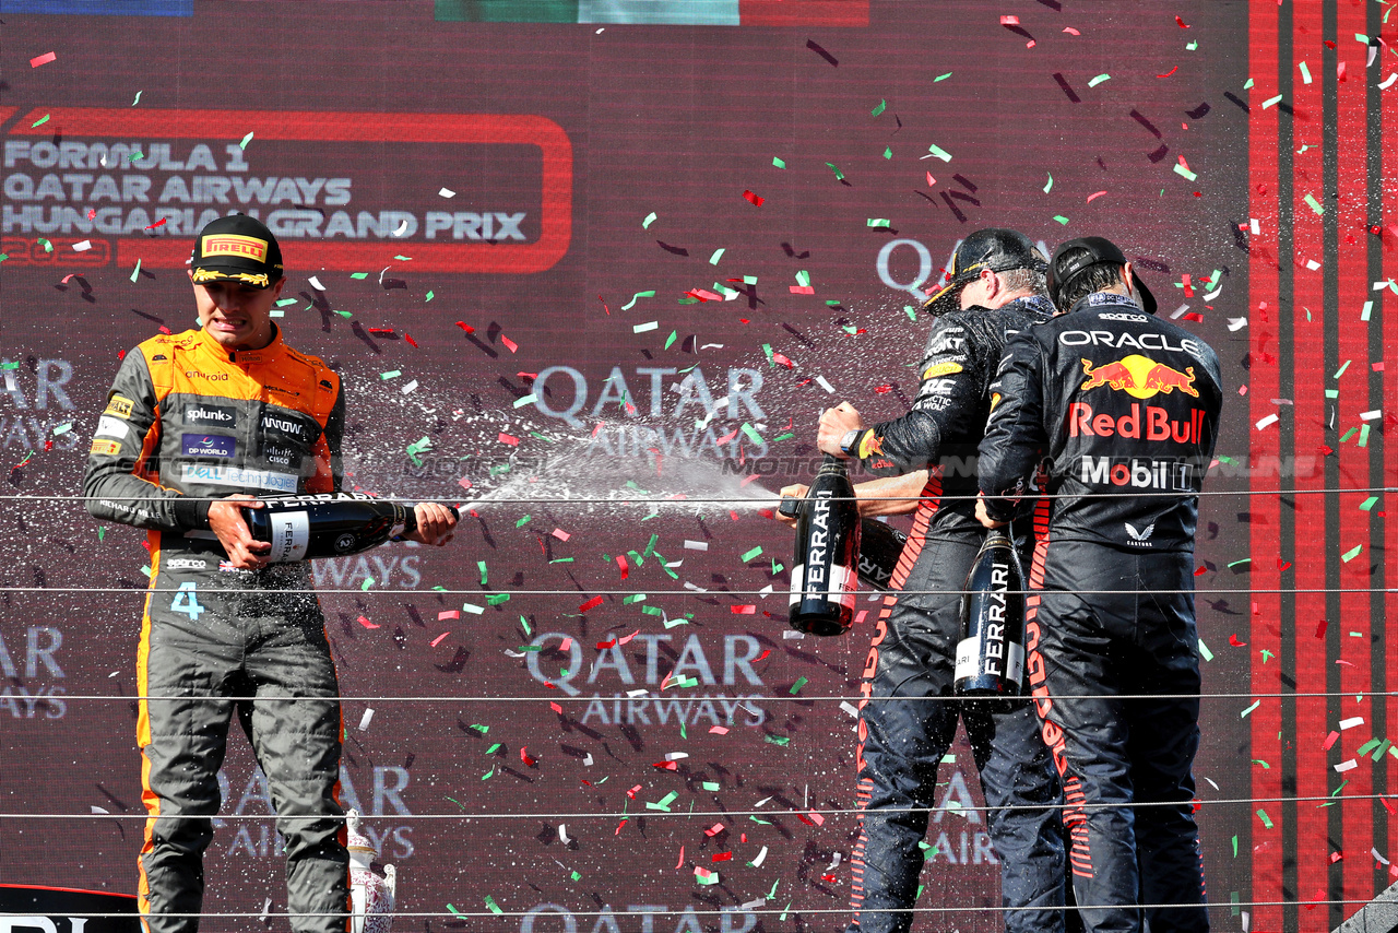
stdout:
<svg viewBox="0 0 1398 933">
<path fill-rule="evenodd" d="M 1258 463 L 1278 456 L 1279 425 L 1264 431 L 1253 429 L 1253 424 L 1272 414 L 1269 399 L 1279 394 L 1278 354 L 1278 203 L 1276 203 L 1276 157 L 1278 157 L 1278 115 L 1272 106 L 1261 108 L 1275 91 L 1276 74 L 1276 3 L 1275 0 L 1253 0 L 1248 7 L 1248 74 L 1257 77 L 1260 87 L 1253 95 L 1253 111 L 1248 115 L 1248 214 L 1258 221 L 1258 235 L 1248 238 L 1248 351 L 1251 369 L 1247 373 L 1247 399 L 1239 407 L 1248 411 L 1248 462 Z M 1265 192 L 1265 193 L 1264 193 Z M 1265 311 L 1262 304 L 1267 304 Z M 1267 359 L 1272 362 L 1268 364 Z M 1251 485 L 1257 490 L 1276 488 L 1276 480 L 1265 473 L 1254 471 Z M 1218 508 L 1218 506 L 1216 506 Z M 1276 562 L 1267 560 L 1276 540 L 1279 508 L 1276 495 L 1253 495 L 1247 511 L 1253 515 L 1248 555 L 1251 555 L 1251 582 L 1262 590 L 1275 590 L 1279 574 Z M 1222 511 L 1222 509 L 1220 509 Z M 1255 694 L 1281 692 L 1281 673 L 1286 667 L 1281 656 L 1282 629 L 1281 599 L 1275 592 L 1254 593 L 1248 607 L 1251 620 L 1253 671 L 1251 691 Z M 1274 657 L 1262 660 L 1262 649 Z M 1271 768 L 1253 765 L 1253 799 L 1276 800 L 1282 796 L 1282 708 L 1276 699 L 1264 699 L 1248 718 L 1251 723 L 1253 758 L 1267 761 Z M 1272 828 L 1268 829 L 1255 814 L 1253 827 L 1253 891 L 1244 901 L 1279 902 L 1282 897 L 1282 809 L 1275 803 L 1261 804 L 1268 810 Z M 1253 807 L 1257 810 L 1258 807 Z M 1281 930 L 1282 908 L 1253 908 L 1251 929 Z"/>
</svg>

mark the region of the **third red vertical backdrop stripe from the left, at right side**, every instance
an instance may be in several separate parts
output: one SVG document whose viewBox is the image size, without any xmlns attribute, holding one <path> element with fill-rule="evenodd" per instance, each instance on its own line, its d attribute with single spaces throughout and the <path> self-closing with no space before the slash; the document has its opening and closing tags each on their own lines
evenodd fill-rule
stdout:
<svg viewBox="0 0 1398 933">
<path fill-rule="evenodd" d="M 1335 4 L 1335 35 L 1352 39 L 1357 34 L 1367 32 L 1367 10 L 1363 6 L 1352 7 L 1348 3 Z M 1353 41 L 1336 42 L 1336 62 L 1345 64 L 1346 77 L 1364 74 L 1367 46 Z M 1370 408 L 1369 404 L 1369 326 L 1359 320 L 1360 309 L 1364 306 L 1369 291 L 1369 234 L 1364 218 L 1369 203 L 1369 172 L 1367 172 L 1367 87 L 1349 77 L 1341 84 L 1334 71 L 1325 76 L 1336 91 L 1336 119 L 1335 119 L 1335 147 L 1339 169 L 1339 199 L 1338 199 L 1338 229 L 1339 229 L 1339 270 L 1335 273 L 1336 284 L 1336 313 L 1339 330 L 1339 365 L 1346 359 L 1349 368 L 1335 380 L 1327 373 L 1327 385 L 1339 389 L 1339 413 L 1335 424 L 1341 434 L 1348 431 L 1348 425 L 1360 424 L 1359 414 Z M 1367 83 L 1366 83 L 1367 84 Z M 1327 206 L 1327 210 L 1329 207 Z M 1339 366 L 1336 366 L 1338 369 Z M 1359 436 L 1350 438 L 1349 443 L 1339 448 L 1339 488 L 1356 490 L 1369 485 L 1369 449 L 1360 448 Z M 1378 436 L 1371 434 L 1370 443 Z M 1339 657 L 1348 662 L 1339 666 L 1341 711 L 1342 716 L 1363 716 L 1364 726 L 1348 729 L 1341 733 L 1342 746 L 1339 760 L 1348 761 L 1355 757 L 1356 748 L 1374 736 L 1374 715 L 1371 691 L 1373 670 L 1373 642 L 1370 634 L 1380 627 L 1380 620 L 1370 618 L 1369 593 L 1362 592 L 1370 586 L 1369 565 L 1373 555 L 1369 553 L 1369 516 L 1359 511 L 1359 504 L 1364 501 L 1367 492 L 1341 492 L 1338 497 L 1339 509 L 1339 541 L 1332 544 L 1332 554 L 1341 554 L 1364 544 L 1363 553 L 1348 564 L 1339 565 L 1339 586 L 1360 592 L 1341 593 L 1339 614 Z M 1331 558 L 1334 560 L 1334 558 Z M 1359 638 L 1350 638 L 1350 632 L 1359 632 Z M 1355 702 L 1355 697 L 1363 697 L 1362 702 Z M 1352 737 L 1350 737 L 1352 736 Z M 1378 736 L 1380 740 L 1384 736 Z M 1349 785 L 1341 792 L 1345 797 L 1366 797 L 1374 792 L 1373 769 L 1383 768 L 1367 757 L 1359 758 L 1359 767 L 1353 771 L 1338 775 L 1349 778 Z M 1367 799 L 1356 799 L 1341 804 L 1341 818 L 1345 848 L 1342 878 L 1342 897 L 1348 904 L 1342 913 L 1348 918 L 1366 904 L 1374 894 L 1388 887 L 1376 881 L 1387 876 L 1374 874 L 1374 862 L 1369 856 L 1374 845 L 1374 803 Z"/>
</svg>

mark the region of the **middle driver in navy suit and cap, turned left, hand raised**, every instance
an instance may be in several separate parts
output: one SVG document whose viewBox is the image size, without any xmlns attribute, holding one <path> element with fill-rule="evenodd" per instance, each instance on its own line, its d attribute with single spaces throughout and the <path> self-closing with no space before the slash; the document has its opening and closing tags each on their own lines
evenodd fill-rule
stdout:
<svg viewBox="0 0 1398 933">
<path fill-rule="evenodd" d="M 843 403 L 821 418 L 823 452 L 888 477 L 856 487 L 863 515 L 916 509 L 863 671 L 851 933 L 903 933 L 913 922 L 937 769 L 958 718 L 990 807 L 1005 929 L 1064 929 L 1058 781 L 1033 711 L 1028 701 L 976 705 L 952 692 L 959 592 L 986 537 L 974 518 L 974 455 L 988 385 L 1007 334 L 1051 313 L 1043 269 L 1043 253 L 1023 234 L 970 234 L 955 252 L 949 284 L 924 305 L 934 323 L 911 411 L 868 427 Z M 781 492 L 802 495 L 804 488 Z"/>
</svg>

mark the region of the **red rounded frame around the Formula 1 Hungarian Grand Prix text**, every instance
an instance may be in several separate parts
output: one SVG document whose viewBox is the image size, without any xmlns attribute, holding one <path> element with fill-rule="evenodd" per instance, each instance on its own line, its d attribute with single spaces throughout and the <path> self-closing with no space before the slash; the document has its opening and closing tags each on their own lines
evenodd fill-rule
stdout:
<svg viewBox="0 0 1398 933">
<path fill-rule="evenodd" d="M 38 126 L 35 126 L 38 123 Z M 554 120 L 535 115 L 506 113 L 370 113 L 306 111 L 124 111 L 101 108 L 35 109 L 10 127 L 8 137 L 189 140 L 235 144 L 252 133 L 261 143 L 363 143 L 375 147 L 414 144 L 468 147 L 537 147 L 540 152 L 538 235 L 530 242 L 440 242 L 431 239 L 303 239 L 280 236 L 288 269 L 365 270 L 398 252 L 412 256 L 421 271 L 438 273 L 540 273 L 552 269 L 572 241 L 573 145 Z M 382 158 L 382 157 L 380 157 Z M 7 159 L 8 161 L 8 159 Z M 6 169 L 8 171 L 8 168 Z M 391 171 L 391 169 L 389 169 Z M 426 196 L 424 196 L 425 200 Z M 222 208 L 222 206 L 219 206 Z M 226 206 L 224 213 L 238 210 Z M 485 215 L 489 224 L 489 214 Z M 505 217 L 496 214 L 495 217 Z M 474 231 L 473 231 L 474 232 Z M 140 260 L 150 269 L 182 269 L 189 260 L 193 231 L 176 236 L 143 236 L 130 231 L 112 235 L 94 231 L 98 255 L 110 255 L 117 266 Z M 18 246 L 6 236 L 7 245 Z M 53 238 L 71 250 L 77 236 Z M 35 238 L 35 242 L 38 239 Z M 41 246 L 42 248 L 42 246 Z M 32 249 L 27 250 L 35 253 Z M 57 250 L 55 250 L 56 253 Z M 82 257 L 82 253 L 74 253 Z M 45 250 L 43 259 L 62 262 Z M 77 264 L 77 263 L 75 263 Z M 94 264 L 91 260 L 84 266 Z"/>
</svg>

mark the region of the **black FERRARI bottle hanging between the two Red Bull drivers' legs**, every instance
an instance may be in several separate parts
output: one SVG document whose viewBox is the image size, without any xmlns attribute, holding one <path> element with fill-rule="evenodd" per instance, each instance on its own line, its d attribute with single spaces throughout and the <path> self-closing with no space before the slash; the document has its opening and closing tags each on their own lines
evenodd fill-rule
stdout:
<svg viewBox="0 0 1398 933">
<path fill-rule="evenodd" d="M 1018 697 L 1025 677 L 1025 575 L 1005 529 L 993 529 L 962 593 L 956 692 Z"/>
</svg>

